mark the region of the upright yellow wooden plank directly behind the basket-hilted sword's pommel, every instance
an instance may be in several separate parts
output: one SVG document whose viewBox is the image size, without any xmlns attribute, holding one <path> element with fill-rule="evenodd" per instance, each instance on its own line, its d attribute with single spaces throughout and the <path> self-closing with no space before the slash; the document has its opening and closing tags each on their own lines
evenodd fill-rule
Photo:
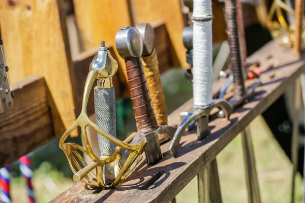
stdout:
<svg viewBox="0 0 305 203">
<path fill-rule="evenodd" d="M 131 26 L 127 2 L 127 0 L 73 0 L 77 25 L 86 50 L 99 46 L 101 40 L 114 47 L 117 30 Z M 121 86 L 125 88 L 123 96 L 129 97 L 125 62 L 115 49 L 114 52 L 119 63 L 117 74 Z"/>
</svg>

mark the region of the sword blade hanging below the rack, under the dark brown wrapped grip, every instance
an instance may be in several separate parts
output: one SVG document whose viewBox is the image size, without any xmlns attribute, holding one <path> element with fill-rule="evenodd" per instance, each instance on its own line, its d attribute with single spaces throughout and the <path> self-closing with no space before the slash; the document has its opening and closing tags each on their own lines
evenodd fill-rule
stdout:
<svg viewBox="0 0 305 203">
<path fill-rule="evenodd" d="M 261 202 L 257 181 L 254 151 L 249 126 L 241 132 L 243 159 L 245 160 L 246 180 L 248 189 L 248 201 Z"/>
</svg>

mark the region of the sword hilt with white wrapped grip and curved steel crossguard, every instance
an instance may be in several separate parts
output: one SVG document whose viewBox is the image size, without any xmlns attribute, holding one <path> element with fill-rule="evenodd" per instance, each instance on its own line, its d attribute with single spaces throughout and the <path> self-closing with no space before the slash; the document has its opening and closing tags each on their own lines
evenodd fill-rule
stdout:
<svg viewBox="0 0 305 203">
<path fill-rule="evenodd" d="M 208 117 L 211 110 L 219 107 L 229 118 L 232 107 L 223 99 L 212 99 L 212 9 L 211 2 L 194 0 L 193 22 L 193 109 L 175 132 L 170 152 L 177 155 L 182 134 L 198 119 L 197 136 L 202 140 L 209 133 Z"/>
</svg>

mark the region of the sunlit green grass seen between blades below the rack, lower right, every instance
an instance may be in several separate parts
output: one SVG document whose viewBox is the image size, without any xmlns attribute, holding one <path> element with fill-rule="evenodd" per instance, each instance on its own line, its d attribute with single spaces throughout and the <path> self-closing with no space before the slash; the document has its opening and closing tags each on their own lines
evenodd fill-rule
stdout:
<svg viewBox="0 0 305 203">
<path fill-rule="evenodd" d="M 261 116 L 251 124 L 262 202 L 290 202 L 292 164 Z M 240 134 L 217 156 L 223 202 L 248 202 Z M 177 202 L 198 202 L 197 177 Z M 302 202 L 302 177 L 297 174 L 295 202 Z"/>
</svg>

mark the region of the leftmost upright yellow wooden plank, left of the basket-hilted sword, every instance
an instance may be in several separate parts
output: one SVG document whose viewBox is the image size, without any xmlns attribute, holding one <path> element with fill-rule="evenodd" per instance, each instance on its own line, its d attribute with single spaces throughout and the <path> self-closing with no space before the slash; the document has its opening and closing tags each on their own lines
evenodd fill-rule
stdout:
<svg viewBox="0 0 305 203">
<path fill-rule="evenodd" d="M 62 135 L 75 121 L 75 80 L 62 0 L 0 1 L 0 24 L 10 83 L 44 76 L 54 99 L 54 132 Z"/>
</svg>

